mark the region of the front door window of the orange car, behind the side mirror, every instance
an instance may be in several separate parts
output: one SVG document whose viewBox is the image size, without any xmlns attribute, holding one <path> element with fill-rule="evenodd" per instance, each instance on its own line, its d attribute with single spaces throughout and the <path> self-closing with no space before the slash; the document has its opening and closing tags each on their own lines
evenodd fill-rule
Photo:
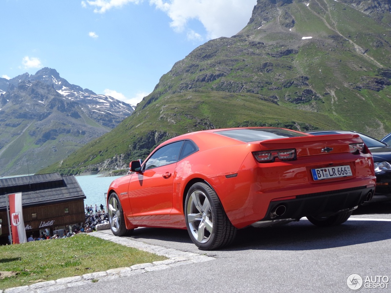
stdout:
<svg viewBox="0 0 391 293">
<path fill-rule="evenodd" d="M 176 141 L 164 147 L 159 148 L 145 162 L 144 170 L 172 164 L 178 161 L 179 151 L 183 145 L 183 141 Z"/>
</svg>

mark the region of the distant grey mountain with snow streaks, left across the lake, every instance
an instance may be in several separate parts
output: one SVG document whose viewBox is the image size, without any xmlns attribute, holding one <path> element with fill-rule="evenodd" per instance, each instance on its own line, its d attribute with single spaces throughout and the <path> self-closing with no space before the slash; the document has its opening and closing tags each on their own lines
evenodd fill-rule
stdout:
<svg viewBox="0 0 391 293">
<path fill-rule="evenodd" d="M 132 105 L 70 84 L 50 68 L 0 79 L 0 175 L 35 173 L 133 111 Z"/>
</svg>

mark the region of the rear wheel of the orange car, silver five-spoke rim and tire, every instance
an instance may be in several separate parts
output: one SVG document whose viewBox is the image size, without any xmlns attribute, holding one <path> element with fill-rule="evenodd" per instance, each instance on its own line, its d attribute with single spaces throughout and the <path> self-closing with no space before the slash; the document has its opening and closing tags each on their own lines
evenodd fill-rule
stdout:
<svg viewBox="0 0 391 293">
<path fill-rule="evenodd" d="M 237 229 L 208 184 L 198 182 L 190 187 L 185 200 L 185 220 L 190 238 L 201 250 L 221 248 L 235 239 Z"/>
</svg>

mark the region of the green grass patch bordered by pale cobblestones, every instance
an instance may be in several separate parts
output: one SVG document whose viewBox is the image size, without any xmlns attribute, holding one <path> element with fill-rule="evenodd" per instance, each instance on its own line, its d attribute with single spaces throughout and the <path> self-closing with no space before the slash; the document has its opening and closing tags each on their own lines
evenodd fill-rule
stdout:
<svg viewBox="0 0 391 293">
<path fill-rule="evenodd" d="M 86 234 L 0 246 L 0 271 L 16 272 L 0 290 L 165 259 Z"/>
</svg>

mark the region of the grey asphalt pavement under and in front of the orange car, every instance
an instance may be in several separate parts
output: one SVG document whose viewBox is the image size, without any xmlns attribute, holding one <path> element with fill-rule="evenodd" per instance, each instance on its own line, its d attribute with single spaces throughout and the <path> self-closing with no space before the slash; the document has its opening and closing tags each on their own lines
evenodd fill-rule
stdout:
<svg viewBox="0 0 391 293">
<path fill-rule="evenodd" d="M 234 245 L 212 252 L 198 250 L 186 230 L 139 228 L 130 238 L 215 259 L 56 292 L 336 293 L 354 292 L 346 284 L 353 273 L 364 279 L 391 278 L 391 202 L 362 207 L 337 227 L 319 228 L 300 220 L 242 229 Z M 391 292 L 391 280 L 389 285 L 358 292 Z"/>
</svg>

